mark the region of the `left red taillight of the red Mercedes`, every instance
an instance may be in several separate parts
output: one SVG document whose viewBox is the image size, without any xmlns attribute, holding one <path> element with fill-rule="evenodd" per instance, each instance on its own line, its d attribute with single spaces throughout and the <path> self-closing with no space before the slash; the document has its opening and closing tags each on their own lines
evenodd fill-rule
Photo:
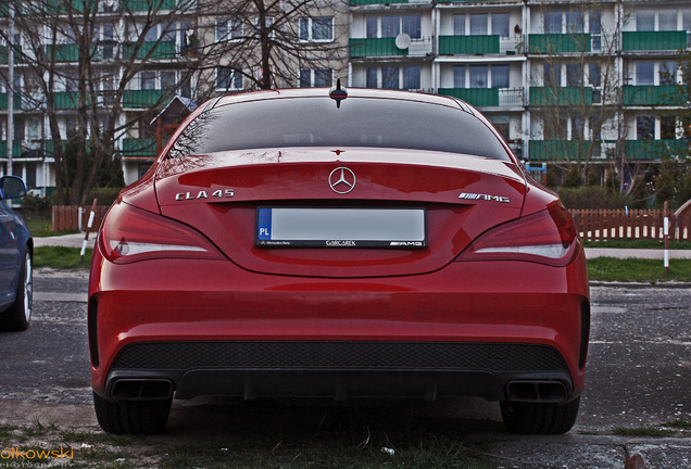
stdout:
<svg viewBox="0 0 691 469">
<path fill-rule="evenodd" d="M 193 228 L 123 202 L 110 210 L 99 245 L 105 258 L 115 264 L 154 257 L 223 258 Z"/>
</svg>

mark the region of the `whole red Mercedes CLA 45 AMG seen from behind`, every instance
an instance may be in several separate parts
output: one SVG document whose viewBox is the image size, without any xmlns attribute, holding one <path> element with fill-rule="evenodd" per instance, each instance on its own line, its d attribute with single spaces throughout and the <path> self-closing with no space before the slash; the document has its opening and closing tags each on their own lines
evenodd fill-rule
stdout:
<svg viewBox="0 0 691 469">
<path fill-rule="evenodd" d="M 590 325 L 580 239 L 475 109 L 353 89 L 211 100 L 98 237 L 96 414 L 163 430 L 173 397 L 500 402 L 576 420 Z"/>
</svg>

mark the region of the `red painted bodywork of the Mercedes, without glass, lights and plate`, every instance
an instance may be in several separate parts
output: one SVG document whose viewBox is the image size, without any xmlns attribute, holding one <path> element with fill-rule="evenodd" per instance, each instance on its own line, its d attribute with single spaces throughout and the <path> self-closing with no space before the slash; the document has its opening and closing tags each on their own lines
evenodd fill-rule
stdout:
<svg viewBox="0 0 691 469">
<path fill-rule="evenodd" d="M 441 97 L 411 99 L 449 103 Z M 104 225 L 118 211 L 138 207 L 202 233 L 217 256 L 116 264 L 104 256 L 101 234 L 89 283 L 90 325 L 96 325 L 89 332 L 92 355 L 98 354 L 92 386 L 100 395 L 106 395 L 111 364 L 125 345 L 196 340 L 544 344 L 566 362 L 574 395 L 581 392 L 581 315 L 589 292 L 580 242 L 562 266 L 458 259 L 483 232 L 557 200 L 529 179 L 515 156 L 503 162 L 411 150 L 287 148 L 165 160 L 171 144 L 140 181 L 122 192 Z M 328 186 L 339 166 L 359 178 L 346 195 Z M 210 197 L 225 189 L 234 190 L 233 198 Z M 208 197 L 199 197 L 201 191 Z M 510 202 L 461 200 L 462 192 Z M 260 249 L 254 217 L 262 204 L 425 206 L 429 245 Z"/>
</svg>

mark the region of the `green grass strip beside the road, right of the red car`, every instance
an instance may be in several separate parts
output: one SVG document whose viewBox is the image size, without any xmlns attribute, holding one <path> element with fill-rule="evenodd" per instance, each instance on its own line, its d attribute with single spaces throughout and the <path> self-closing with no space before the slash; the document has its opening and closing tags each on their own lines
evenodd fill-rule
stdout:
<svg viewBox="0 0 691 469">
<path fill-rule="evenodd" d="M 666 275 L 662 259 L 595 257 L 588 261 L 588 274 L 599 281 L 691 282 L 691 259 L 671 259 Z"/>
</svg>

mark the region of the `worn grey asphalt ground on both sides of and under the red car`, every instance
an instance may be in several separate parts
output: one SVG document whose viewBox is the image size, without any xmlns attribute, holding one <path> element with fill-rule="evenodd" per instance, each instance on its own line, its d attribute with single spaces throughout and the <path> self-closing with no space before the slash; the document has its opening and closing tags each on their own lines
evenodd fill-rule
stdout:
<svg viewBox="0 0 691 469">
<path fill-rule="evenodd" d="M 86 270 L 37 270 L 32 327 L 24 333 L 0 334 L 2 424 L 40 420 L 99 431 L 89 389 L 87 275 Z M 498 467 L 623 468 L 636 453 L 649 468 L 691 467 L 688 430 L 654 431 L 669 429 L 670 422 L 691 421 L 691 289 L 593 286 L 591 294 L 587 390 L 569 434 L 507 433 L 499 406 L 473 398 L 402 404 L 359 415 L 385 426 L 410 418 L 462 426 L 469 441 L 490 442 L 488 453 Z M 324 415 L 322 409 L 267 406 L 257 410 L 256 404 L 223 400 L 176 402 L 167 434 L 205 438 L 233 427 L 238 434 L 252 434 L 272 426 L 282 432 L 302 431 L 301 422 L 313 424 L 311 419 L 318 422 Z"/>
</svg>

